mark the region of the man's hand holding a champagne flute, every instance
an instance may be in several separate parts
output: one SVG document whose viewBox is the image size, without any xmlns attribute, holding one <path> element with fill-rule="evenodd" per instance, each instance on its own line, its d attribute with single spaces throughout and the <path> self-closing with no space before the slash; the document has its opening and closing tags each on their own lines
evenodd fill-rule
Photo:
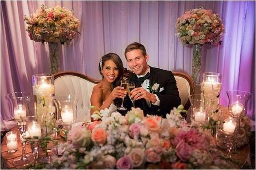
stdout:
<svg viewBox="0 0 256 170">
<path fill-rule="evenodd" d="M 131 91 L 131 98 L 138 100 L 138 99 L 146 99 L 151 101 L 152 103 L 155 103 L 157 101 L 157 98 L 155 94 L 148 93 L 147 90 L 143 89 L 142 87 L 137 87 Z"/>
</svg>

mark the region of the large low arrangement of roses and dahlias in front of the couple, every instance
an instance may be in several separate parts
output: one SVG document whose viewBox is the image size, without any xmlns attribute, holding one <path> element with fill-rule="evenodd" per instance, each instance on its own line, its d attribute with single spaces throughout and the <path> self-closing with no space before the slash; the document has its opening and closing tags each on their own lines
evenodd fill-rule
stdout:
<svg viewBox="0 0 256 170">
<path fill-rule="evenodd" d="M 68 133 L 63 156 L 53 156 L 47 169 L 226 169 L 211 134 L 187 127 L 183 106 L 167 118 L 132 108 L 122 116 L 100 111 L 101 120 Z"/>
</svg>

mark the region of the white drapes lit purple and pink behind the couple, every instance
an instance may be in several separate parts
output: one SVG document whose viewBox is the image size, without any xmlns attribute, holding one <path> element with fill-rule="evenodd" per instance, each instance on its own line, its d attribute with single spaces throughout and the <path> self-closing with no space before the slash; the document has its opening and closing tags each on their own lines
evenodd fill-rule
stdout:
<svg viewBox="0 0 256 170">
<path fill-rule="evenodd" d="M 49 72 L 48 44 L 31 41 L 23 20 L 42 4 L 74 9 L 81 21 L 81 34 L 59 45 L 60 70 L 96 79 L 99 59 L 108 52 L 117 53 L 127 67 L 124 50 L 131 42 L 146 47 L 149 65 L 191 74 L 192 46 L 178 41 L 174 25 L 189 9 L 212 9 L 226 33 L 222 45 L 203 46 L 202 72 L 222 74 L 221 104 L 227 105 L 227 90 L 251 92 L 248 115 L 255 119 L 254 1 L 1 1 L 1 118 L 9 119 L 6 94 L 32 92 L 32 75 Z"/>
</svg>

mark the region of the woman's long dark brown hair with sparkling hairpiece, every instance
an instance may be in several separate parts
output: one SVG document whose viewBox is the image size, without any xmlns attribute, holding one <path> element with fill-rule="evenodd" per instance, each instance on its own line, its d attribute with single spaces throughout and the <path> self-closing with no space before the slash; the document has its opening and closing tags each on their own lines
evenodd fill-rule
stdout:
<svg viewBox="0 0 256 170">
<path fill-rule="evenodd" d="M 112 52 L 108 53 L 108 54 L 102 56 L 98 63 L 99 74 L 101 74 L 101 70 L 105 64 L 105 61 L 108 61 L 108 60 L 112 60 L 117 65 L 117 68 L 118 68 L 118 77 L 113 82 L 113 88 L 114 88 L 120 84 L 120 81 L 123 78 L 123 62 L 122 62 L 121 58 L 116 53 L 112 53 Z M 102 78 L 103 78 L 103 75 L 102 75 Z"/>
</svg>

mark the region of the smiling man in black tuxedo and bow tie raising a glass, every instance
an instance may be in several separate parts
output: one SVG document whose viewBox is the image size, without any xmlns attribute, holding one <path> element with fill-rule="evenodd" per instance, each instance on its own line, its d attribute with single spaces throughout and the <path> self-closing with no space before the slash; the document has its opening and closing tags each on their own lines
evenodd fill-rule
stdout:
<svg viewBox="0 0 256 170">
<path fill-rule="evenodd" d="M 135 89 L 131 91 L 135 107 L 143 109 L 144 115 L 154 114 L 165 118 L 166 113 L 181 104 L 172 72 L 148 66 L 146 49 L 138 42 L 129 44 L 124 55 L 128 66 L 135 73 L 128 78 L 129 82 L 135 84 Z M 127 96 L 124 104 L 127 110 L 131 109 L 132 102 Z"/>
</svg>

